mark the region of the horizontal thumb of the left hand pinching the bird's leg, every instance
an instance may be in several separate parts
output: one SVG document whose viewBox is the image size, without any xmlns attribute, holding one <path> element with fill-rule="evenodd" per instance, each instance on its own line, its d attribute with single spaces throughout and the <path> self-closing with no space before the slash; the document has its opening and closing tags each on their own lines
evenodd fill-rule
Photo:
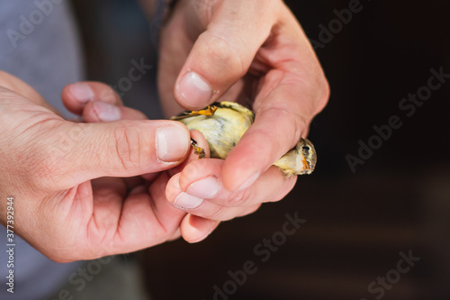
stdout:
<svg viewBox="0 0 450 300">
<path fill-rule="evenodd" d="M 133 177 L 173 168 L 190 148 L 189 131 L 174 121 L 61 121 L 53 128 L 50 138 L 40 142 L 45 146 L 39 147 L 40 185 L 53 190 L 97 177 Z"/>
</svg>

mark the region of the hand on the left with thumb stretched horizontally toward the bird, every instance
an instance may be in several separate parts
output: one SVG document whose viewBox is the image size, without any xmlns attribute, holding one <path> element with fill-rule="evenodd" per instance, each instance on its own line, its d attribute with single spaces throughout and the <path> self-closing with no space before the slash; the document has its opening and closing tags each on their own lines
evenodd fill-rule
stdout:
<svg viewBox="0 0 450 300">
<path fill-rule="evenodd" d="M 186 214 L 166 201 L 166 172 L 131 190 L 121 177 L 181 163 L 190 149 L 183 124 L 68 122 L 0 72 L 0 125 L 0 223 L 13 196 L 14 233 L 49 259 L 94 259 L 179 236 Z"/>
</svg>

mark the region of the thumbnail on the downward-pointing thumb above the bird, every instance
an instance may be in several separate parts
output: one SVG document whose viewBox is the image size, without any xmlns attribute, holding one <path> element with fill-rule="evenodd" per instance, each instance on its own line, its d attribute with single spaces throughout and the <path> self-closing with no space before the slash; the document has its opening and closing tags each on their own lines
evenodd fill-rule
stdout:
<svg viewBox="0 0 450 300">
<path fill-rule="evenodd" d="M 204 106 L 211 100 L 211 86 L 195 72 L 184 75 L 176 86 L 176 95 L 190 106 Z"/>
</svg>

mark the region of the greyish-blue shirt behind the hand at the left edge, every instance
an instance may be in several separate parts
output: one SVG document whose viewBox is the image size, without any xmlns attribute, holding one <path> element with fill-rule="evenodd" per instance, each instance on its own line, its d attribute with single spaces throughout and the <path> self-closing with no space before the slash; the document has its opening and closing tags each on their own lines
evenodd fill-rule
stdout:
<svg viewBox="0 0 450 300">
<path fill-rule="evenodd" d="M 61 104 L 61 90 L 83 78 L 69 3 L 66 0 L 0 2 L 0 69 L 33 86 L 49 104 L 69 116 Z M 16 202 L 23 200 L 15 199 Z M 6 229 L 0 226 L 0 299 L 44 299 L 66 284 L 79 265 L 78 262 L 53 262 L 16 235 L 14 294 L 10 294 L 5 285 L 6 244 Z"/>
</svg>

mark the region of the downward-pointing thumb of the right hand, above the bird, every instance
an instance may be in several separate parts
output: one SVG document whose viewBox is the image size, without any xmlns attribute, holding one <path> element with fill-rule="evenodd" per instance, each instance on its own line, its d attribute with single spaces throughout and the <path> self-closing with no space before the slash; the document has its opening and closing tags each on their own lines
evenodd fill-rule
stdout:
<svg viewBox="0 0 450 300">
<path fill-rule="evenodd" d="M 272 1 L 221 1 L 207 30 L 195 41 L 175 83 L 175 98 L 188 109 L 209 105 L 243 77 L 267 40 L 279 5 Z M 205 17 L 206 18 L 206 17 Z"/>
</svg>

